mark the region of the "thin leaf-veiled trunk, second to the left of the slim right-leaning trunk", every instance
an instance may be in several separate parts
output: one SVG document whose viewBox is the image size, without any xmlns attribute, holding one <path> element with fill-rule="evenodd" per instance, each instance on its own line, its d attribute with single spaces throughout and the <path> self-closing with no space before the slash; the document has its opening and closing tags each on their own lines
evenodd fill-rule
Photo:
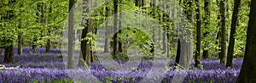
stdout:
<svg viewBox="0 0 256 83">
<path fill-rule="evenodd" d="M 204 25 L 205 25 L 205 28 L 207 30 L 209 28 L 209 24 L 210 24 L 209 23 L 209 21 L 210 21 L 209 20 L 209 17 L 210 17 L 210 11 L 209 11 L 210 1 L 209 0 L 205 0 L 204 5 L 205 5 L 204 9 L 205 9 L 205 13 L 206 13 L 206 15 L 204 17 Z M 209 32 L 206 31 L 204 33 L 204 37 L 206 38 L 208 34 L 209 34 Z M 204 47 L 208 47 L 209 43 L 207 41 L 208 40 L 205 40 L 205 45 L 206 46 L 204 46 Z M 208 49 L 203 48 L 202 58 L 209 58 L 209 51 L 208 51 Z"/>
</svg>

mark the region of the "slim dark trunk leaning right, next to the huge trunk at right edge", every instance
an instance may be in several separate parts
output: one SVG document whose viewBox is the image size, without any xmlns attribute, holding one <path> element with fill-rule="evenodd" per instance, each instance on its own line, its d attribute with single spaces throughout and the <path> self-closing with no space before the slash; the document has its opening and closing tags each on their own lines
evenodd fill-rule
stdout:
<svg viewBox="0 0 256 83">
<path fill-rule="evenodd" d="M 232 23 L 231 23 L 231 30 L 230 30 L 230 45 L 228 48 L 228 58 L 226 67 L 233 68 L 233 53 L 234 53 L 234 46 L 235 46 L 235 33 L 236 33 L 236 25 L 237 25 L 237 18 L 238 12 L 240 7 L 241 0 L 235 0 L 233 15 L 232 15 Z"/>
</svg>

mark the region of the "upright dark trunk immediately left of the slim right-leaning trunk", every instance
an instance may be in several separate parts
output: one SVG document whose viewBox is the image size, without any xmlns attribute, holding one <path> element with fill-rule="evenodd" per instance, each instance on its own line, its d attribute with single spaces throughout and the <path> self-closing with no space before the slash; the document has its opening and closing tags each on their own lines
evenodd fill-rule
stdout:
<svg viewBox="0 0 256 83">
<path fill-rule="evenodd" d="M 221 55 L 220 64 L 224 64 L 226 58 L 226 0 L 220 1 L 221 12 Z"/>
</svg>

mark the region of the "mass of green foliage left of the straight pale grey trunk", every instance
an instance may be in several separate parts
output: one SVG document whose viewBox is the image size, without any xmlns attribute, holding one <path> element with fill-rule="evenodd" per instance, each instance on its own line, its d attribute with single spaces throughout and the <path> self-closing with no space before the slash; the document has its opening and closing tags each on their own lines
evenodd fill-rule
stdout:
<svg viewBox="0 0 256 83">
<path fill-rule="evenodd" d="M 67 17 L 67 3 L 65 0 L 18 0 L 10 4 L 8 0 L 4 0 L 3 4 L 0 4 L 4 5 L 0 14 L 0 40 L 9 39 L 14 42 L 0 42 L 0 46 L 14 44 L 18 35 L 22 36 L 25 46 L 30 46 L 33 38 L 38 40 L 36 42 L 38 45 L 45 45 L 47 40 L 60 38 L 61 34 L 56 33 L 61 32 L 64 19 Z M 38 4 L 44 5 L 44 12 L 38 10 Z M 13 11 L 14 17 L 4 19 L 4 16 L 10 15 L 7 14 L 9 11 Z"/>
</svg>

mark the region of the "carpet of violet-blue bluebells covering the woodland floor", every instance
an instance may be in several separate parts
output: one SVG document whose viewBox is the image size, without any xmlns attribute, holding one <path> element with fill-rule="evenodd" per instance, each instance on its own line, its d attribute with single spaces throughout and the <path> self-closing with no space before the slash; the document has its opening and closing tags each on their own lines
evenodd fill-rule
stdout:
<svg viewBox="0 0 256 83">
<path fill-rule="evenodd" d="M 20 66 L 20 68 L 8 70 L 0 69 L 0 83 L 71 80 L 67 72 L 72 72 L 73 74 L 83 73 L 83 69 L 66 69 L 61 57 L 61 50 L 58 49 L 52 49 L 49 53 L 45 53 L 44 48 L 38 48 L 38 51 L 35 51 L 31 47 L 24 47 L 22 55 L 17 55 L 16 53 L 17 48 L 15 47 L 15 64 L 4 65 L 6 67 Z M 235 82 L 241 69 L 242 58 L 235 58 L 233 69 L 226 69 L 224 64 L 218 64 L 218 62 L 219 59 L 202 59 L 201 64 L 203 65 L 203 69 L 188 69 L 186 71 L 188 75 L 183 82 Z M 0 56 L 0 64 L 3 64 L 3 56 Z M 191 65 L 193 65 L 193 63 Z M 174 63 L 171 62 L 170 66 L 174 66 Z M 145 69 L 147 71 L 148 64 L 142 63 L 137 69 Z M 167 70 L 162 82 L 171 83 L 176 71 L 177 69 Z M 99 63 L 91 64 L 90 73 L 96 76 L 98 80 L 108 80 L 113 83 L 134 83 L 143 80 L 143 77 L 146 76 L 137 70 L 133 70 L 127 74 L 113 73 L 111 70 L 102 67 Z M 157 74 L 160 72 L 154 73 Z M 82 75 L 86 76 L 86 72 Z"/>
</svg>

